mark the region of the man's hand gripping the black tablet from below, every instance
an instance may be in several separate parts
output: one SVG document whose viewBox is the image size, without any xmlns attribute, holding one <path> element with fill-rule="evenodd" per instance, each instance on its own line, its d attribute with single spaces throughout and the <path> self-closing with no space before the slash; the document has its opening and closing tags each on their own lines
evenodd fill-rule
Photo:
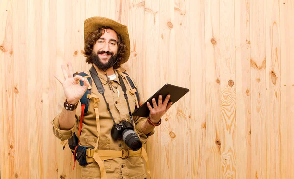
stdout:
<svg viewBox="0 0 294 179">
<path fill-rule="evenodd" d="M 169 110 L 172 106 L 172 102 L 169 102 L 171 95 L 168 95 L 164 102 L 162 102 L 162 95 L 158 97 L 158 104 L 156 103 L 155 98 L 152 99 L 153 108 L 149 102 L 147 102 L 147 106 L 150 110 L 149 118 L 154 123 L 157 124 L 161 117 Z"/>
</svg>

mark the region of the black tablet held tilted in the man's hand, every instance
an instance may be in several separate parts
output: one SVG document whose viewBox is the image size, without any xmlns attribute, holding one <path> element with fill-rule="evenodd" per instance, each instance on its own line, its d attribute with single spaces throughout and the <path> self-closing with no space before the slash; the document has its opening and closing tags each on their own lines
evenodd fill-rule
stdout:
<svg viewBox="0 0 294 179">
<path fill-rule="evenodd" d="M 162 95 L 162 102 L 166 98 L 168 94 L 171 95 L 169 102 L 172 102 L 172 105 L 177 102 L 180 98 L 182 98 L 186 93 L 189 92 L 189 89 L 175 86 L 172 84 L 165 84 L 162 88 L 160 88 L 154 95 L 152 95 L 146 102 L 144 102 L 138 109 L 133 112 L 133 116 L 147 117 L 149 116 L 150 110 L 147 106 L 147 102 L 153 107 L 152 99 L 156 99 L 156 103 L 158 103 L 159 95 Z"/>
</svg>

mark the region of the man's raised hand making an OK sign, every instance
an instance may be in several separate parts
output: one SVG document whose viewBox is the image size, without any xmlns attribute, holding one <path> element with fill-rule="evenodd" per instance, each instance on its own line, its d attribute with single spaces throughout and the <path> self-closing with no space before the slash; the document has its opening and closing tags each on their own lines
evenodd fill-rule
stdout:
<svg viewBox="0 0 294 179">
<path fill-rule="evenodd" d="M 64 65 L 61 65 L 64 79 L 58 77 L 57 75 L 54 75 L 54 77 L 61 83 L 67 102 L 75 104 L 82 98 L 90 84 L 87 78 L 80 75 L 73 77 L 73 68 L 70 61 L 68 62 L 68 68 L 69 74 L 67 75 L 67 70 Z M 79 80 L 84 82 L 83 86 L 80 85 Z"/>
</svg>

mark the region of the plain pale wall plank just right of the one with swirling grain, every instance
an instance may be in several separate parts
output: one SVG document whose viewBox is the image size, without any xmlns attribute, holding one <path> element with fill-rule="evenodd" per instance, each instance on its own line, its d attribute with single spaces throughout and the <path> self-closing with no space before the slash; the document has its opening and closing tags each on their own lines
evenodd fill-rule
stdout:
<svg viewBox="0 0 294 179">
<path fill-rule="evenodd" d="M 250 4 L 235 1 L 236 179 L 251 179 Z"/>
</svg>

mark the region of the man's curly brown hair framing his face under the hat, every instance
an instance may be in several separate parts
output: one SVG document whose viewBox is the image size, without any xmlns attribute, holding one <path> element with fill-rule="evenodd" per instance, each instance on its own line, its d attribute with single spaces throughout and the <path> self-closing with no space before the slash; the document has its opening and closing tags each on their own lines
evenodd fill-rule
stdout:
<svg viewBox="0 0 294 179">
<path fill-rule="evenodd" d="M 94 32 L 90 32 L 87 34 L 86 39 L 85 39 L 85 47 L 84 47 L 85 54 L 84 54 L 84 56 L 86 57 L 86 62 L 88 64 L 93 63 L 92 59 L 90 58 L 92 55 L 93 46 L 96 43 L 96 41 L 105 33 L 106 29 L 113 30 L 111 27 L 102 26 L 102 27 L 99 27 Z M 115 31 L 115 30 L 113 30 L 113 31 Z M 114 64 L 113 68 L 118 69 L 122 65 L 123 55 L 127 51 L 127 47 L 123 41 L 122 36 L 119 33 L 117 33 L 116 31 L 115 31 L 115 33 L 118 36 L 118 42 L 117 42 L 118 52 L 117 52 L 117 62 Z"/>
</svg>

